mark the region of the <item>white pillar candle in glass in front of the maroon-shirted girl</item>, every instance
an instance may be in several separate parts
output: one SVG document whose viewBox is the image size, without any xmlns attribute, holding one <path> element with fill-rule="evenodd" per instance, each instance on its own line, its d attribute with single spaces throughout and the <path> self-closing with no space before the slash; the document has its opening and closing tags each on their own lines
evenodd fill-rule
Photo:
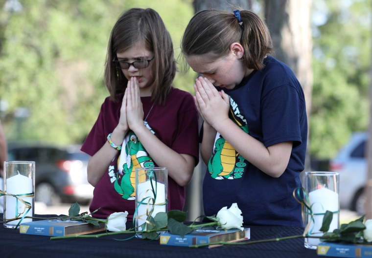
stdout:
<svg viewBox="0 0 372 258">
<path fill-rule="evenodd" d="M 165 212 L 165 208 L 166 208 L 166 204 L 164 204 L 165 203 L 165 187 L 164 187 L 164 184 L 159 183 L 159 182 L 156 183 L 154 180 L 152 181 L 152 185 L 154 187 L 154 191 L 155 190 L 157 191 L 154 211 L 151 214 L 152 217 L 155 217 L 155 215 L 158 214 L 159 212 Z M 146 181 L 144 183 L 138 184 L 136 191 L 138 191 L 137 192 L 139 196 L 138 201 L 142 201 L 144 198 L 149 197 L 143 200 L 143 202 L 138 206 L 136 216 L 140 217 L 140 219 L 137 219 L 137 220 L 138 220 L 138 225 L 141 225 L 145 222 L 144 219 L 147 218 L 148 213 L 152 209 L 153 201 L 151 200 L 151 198 L 154 198 L 154 194 L 152 192 L 150 181 Z M 147 203 L 149 203 L 149 205 L 147 205 Z M 139 228 L 138 230 L 141 230 L 141 228 Z"/>
</svg>

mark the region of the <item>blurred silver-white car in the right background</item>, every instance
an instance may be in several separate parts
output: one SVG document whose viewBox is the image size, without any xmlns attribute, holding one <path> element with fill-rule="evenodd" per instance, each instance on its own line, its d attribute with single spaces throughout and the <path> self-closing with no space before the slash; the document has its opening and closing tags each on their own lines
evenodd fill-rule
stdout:
<svg viewBox="0 0 372 258">
<path fill-rule="evenodd" d="M 364 187 L 367 180 L 367 132 L 355 132 L 329 162 L 329 170 L 340 173 L 340 208 L 365 214 Z"/>
</svg>

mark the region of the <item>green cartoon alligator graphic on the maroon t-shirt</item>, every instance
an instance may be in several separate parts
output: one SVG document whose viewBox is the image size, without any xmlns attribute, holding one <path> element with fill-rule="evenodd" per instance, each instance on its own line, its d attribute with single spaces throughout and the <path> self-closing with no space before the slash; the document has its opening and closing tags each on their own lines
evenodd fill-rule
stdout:
<svg viewBox="0 0 372 258">
<path fill-rule="evenodd" d="M 125 152 L 127 160 L 123 164 L 122 174 L 116 172 L 116 178 L 121 177 L 121 180 L 120 183 L 119 180 L 116 180 L 114 187 L 118 194 L 122 194 L 122 198 L 131 200 L 135 199 L 136 168 L 154 167 L 154 162 L 148 156 L 134 132 L 129 133 L 129 141 L 125 145 Z"/>
</svg>

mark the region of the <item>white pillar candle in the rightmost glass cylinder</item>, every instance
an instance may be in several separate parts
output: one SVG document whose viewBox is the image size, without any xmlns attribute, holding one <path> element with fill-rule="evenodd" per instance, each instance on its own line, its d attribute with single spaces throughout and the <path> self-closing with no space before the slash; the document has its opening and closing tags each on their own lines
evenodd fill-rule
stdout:
<svg viewBox="0 0 372 258">
<path fill-rule="evenodd" d="M 324 215 L 314 215 L 314 214 L 324 214 L 326 211 L 337 212 L 339 211 L 339 201 L 338 194 L 333 192 L 325 187 L 317 189 L 309 193 L 309 201 L 311 210 L 313 213 L 314 222 L 310 219 L 309 232 L 311 231 L 311 236 L 323 236 L 323 233 L 320 231 L 320 228 L 323 224 Z M 338 228 L 338 215 L 333 214 L 332 221 L 329 225 L 328 232 L 333 232 L 333 230 Z M 305 225 L 306 226 L 306 225 Z M 311 245 L 318 245 L 320 243 L 319 238 L 308 238 L 308 243 Z"/>
</svg>

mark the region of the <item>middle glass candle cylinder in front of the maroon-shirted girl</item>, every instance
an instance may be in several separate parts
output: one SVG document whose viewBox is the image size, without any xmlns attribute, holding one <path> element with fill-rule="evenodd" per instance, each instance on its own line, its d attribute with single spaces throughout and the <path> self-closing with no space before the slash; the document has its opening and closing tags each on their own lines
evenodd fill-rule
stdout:
<svg viewBox="0 0 372 258">
<path fill-rule="evenodd" d="M 134 216 L 137 237 L 147 229 L 149 217 L 159 212 L 167 212 L 168 169 L 136 168 L 136 214 Z"/>
</svg>

